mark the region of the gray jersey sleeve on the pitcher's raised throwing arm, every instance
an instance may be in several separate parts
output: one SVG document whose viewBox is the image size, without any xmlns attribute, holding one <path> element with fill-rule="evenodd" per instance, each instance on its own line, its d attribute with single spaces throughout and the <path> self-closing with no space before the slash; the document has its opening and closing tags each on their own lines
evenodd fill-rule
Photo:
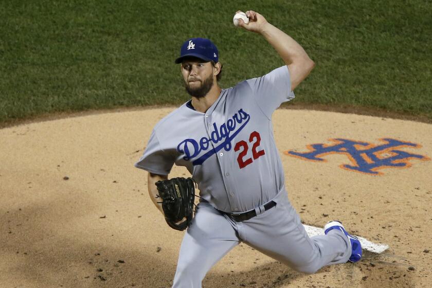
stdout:
<svg viewBox="0 0 432 288">
<path fill-rule="evenodd" d="M 271 119 L 280 104 L 295 97 L 294 92 L 291 91 L 290 70 L 286 65 L 246 82 L 252 89 L 255 101 L 268 119 Z"/>
</svg>

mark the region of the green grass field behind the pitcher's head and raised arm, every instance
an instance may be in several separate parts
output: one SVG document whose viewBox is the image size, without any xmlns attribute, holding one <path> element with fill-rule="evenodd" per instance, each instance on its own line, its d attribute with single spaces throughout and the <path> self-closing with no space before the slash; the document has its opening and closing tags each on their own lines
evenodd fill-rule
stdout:
<svg viewBox="0 0 432 288">
<path fill-rule="evenodd" d="M 283 65 L 232 25 L 254 9 L 316 62 L 295 102 L 432 118 L 432 2 L 0 0 L 0 122 L 51 112 L 179 104 L 183 41 L 210 38 L 222 87 Z"/>
</svg>

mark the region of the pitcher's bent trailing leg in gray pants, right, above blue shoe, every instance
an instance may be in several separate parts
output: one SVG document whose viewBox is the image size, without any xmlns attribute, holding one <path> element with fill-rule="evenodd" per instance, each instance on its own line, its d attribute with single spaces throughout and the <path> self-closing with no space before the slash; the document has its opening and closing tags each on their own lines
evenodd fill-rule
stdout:
<svg viewBox="0 0 432 288">
<path fill-rule="evenodd" d="M 285 197 L 276 207 L 245 222 L 245 242 L 303 273 L 347 262 L 351 244 L 345 234 L 332 230 L 328 235 L 310 238 Z"/>
</svg>

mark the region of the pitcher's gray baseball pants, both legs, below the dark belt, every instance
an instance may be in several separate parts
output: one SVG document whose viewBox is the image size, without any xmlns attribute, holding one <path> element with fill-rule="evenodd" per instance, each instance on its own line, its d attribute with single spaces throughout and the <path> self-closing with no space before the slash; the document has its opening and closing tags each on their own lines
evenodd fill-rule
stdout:
<svg viewBox="0 0 432 288">
<path fill-rule="evenodd" d="M 201 287 L 210 268 L 240 242 L 308 274 L 348 261 L 351 243 L 343 232 L 334 229 L 310 238 L 286 190 L 279 191 L 273 201 L 276 207 L 244 222 L 235 222 L 201 202 L 182 241 L 173 288 Z"/>
</svg>

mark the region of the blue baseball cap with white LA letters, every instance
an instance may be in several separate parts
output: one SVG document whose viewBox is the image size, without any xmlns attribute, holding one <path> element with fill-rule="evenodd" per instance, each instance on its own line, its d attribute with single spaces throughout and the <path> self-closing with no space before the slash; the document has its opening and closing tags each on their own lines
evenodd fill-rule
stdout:
<svg viewBox="0 0 432 288">
<path fill-rule="evenodd" d="M 185 57 L 197 57 L 206 61 L 218 62 L 219 52 L 216 45 L 205 38 L 191 38 L 185 41 L 180 49 L 180 57 L 175 63 L 181 63 Z"/>
</svg>

